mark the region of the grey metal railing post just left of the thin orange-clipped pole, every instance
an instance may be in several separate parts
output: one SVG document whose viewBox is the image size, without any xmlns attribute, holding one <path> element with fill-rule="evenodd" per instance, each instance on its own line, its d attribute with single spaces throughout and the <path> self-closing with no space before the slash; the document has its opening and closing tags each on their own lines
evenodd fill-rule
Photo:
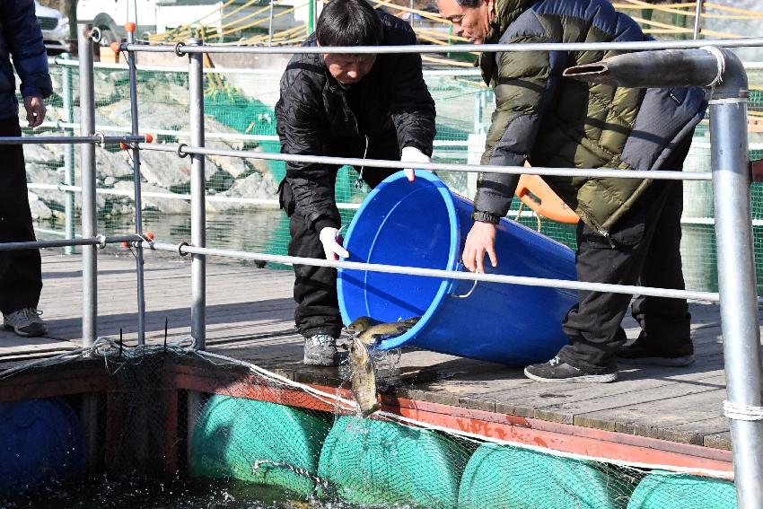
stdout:
<svg viewBox="0 0 763 509">
<path fill-rule="evenodd" d="M 92 136 L 95 132 L 95 89 L 92 83 L 91 25 L 81 24 L 77 35 L 80 59 L 80 132 Z M 82 234 L 94 237 L 98 227 L 95 207 L 95 145 L 82 148 Z M 83 246 L 83 346 L 92 346 L 97 336 L 98 285 L 96 247 Z"/>
</svg>

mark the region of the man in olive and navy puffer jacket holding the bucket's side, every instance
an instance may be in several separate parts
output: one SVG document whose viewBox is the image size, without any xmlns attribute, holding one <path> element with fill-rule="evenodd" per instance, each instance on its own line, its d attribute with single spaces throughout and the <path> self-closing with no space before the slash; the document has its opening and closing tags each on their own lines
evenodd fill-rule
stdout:
<svg viewBox="0 0 763 509">
<path fill-rule="evenodd" d="M 440 13 L 475 43 L 645 40 L 636 22 L 606 0 L 439 0 Z M 483 53 L 479 66 L 496 92 L 496 113 L 482 164 L 628 170 L 680 170 L 704 115 L 698 88 L 627 89 L 562 78 L 566 67 L 612 51 Z M 496 259 L 496 224 L 506 215 L 517 176 L 480 173 L 475 223 L 463 261 L 483 272 Z M 581 281 L 684 288 L 680 261 L 680 181 L 544 177 L 580 216 Z M 511 263 L 511 260 L 500 260 Z M 638 297 L 642 331 L 624 347 L 620 323 L 630 295 L 582 291 L 562 324 L 569 344 L 525 375 L 539 382 L 612 382 L 617 358 L 640 364 L 694 360 L 686 301 Z"/>
</svg>

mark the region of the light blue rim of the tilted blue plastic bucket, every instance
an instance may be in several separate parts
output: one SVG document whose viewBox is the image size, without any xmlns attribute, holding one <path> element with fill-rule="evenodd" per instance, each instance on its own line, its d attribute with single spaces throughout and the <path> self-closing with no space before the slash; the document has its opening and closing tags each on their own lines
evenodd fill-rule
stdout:
<svg viewBox="0 0 763 509">
<path fill-rule="evenodd" d="M 349 243 L 350 239 L 352 239 L 352 234 L 354 233 L 355 227 L 357 225 L 357 218 L 361 217 L 365 208 L 372 203 L 373 197 L 376 197 L 376 195 L 378 195 L 382 191 L 382 189 L 386 188 L 387 186 L 389 186 L 390 184 L 394 182 L 397 182 L 398 180 L 406 180 L 405 183 L 408 183 L 408 178 L 405 176 L 405 172 L 397 171 L 395 173 L 392 173 L 389 177 L 382 180 L 382 182 L 380 182 L 379 185 L 376 186 L 376 188 L 372 189 L 372 191 L 368 194 L 368 196 L 365 197 L 363 203 L 361 204 L 360 207 L 358 207 L 357 212 L 355 212 L 355 216 L 353 217 L 352 222 L 347 227 L 346 243 Z M 448 212 L 448 222 L 451 225 L 450 239 L 449 239 L 449 252 L 448 252 L 447 265 L 443 269 L 460 271 L 460 263 L 458 261 L 458 255 L 460 250 L 460 241 L 459 241 L 460 224 L 458 220 L 458 215 L 456 213 L 456 206 L 455 206 L 455 203 L 453 202 L 452 190 L 449 189 L 448 186 L 443 182 L 443 180 L 437 177 L 434 173 L 430 171 L 423 171 L 423 170 L 417 171 L 416 180 L 414 180 L 414 182 L 410 182 L 410 185 L 416 186 L 417 185 L 416 182 L 418 181 L 420 184 L 422 180 L 425 181 L 427 185 L 431 185 L 432 187 L 437 189 L 438 193 L 440 194 L 440 197 L 443 199 L 443 203 Z M 411 191 L 416 191 L 416 190 L 417 190 L 416 188 L 411 189 Z M 342 286 L 343 286 L 342 275 L 344 274 L 344 271 L 345 271 L 344 268 L 338 269 L 337 294 L 339 297 L 338 298 L 339 313 L 341 314 L 342 321 L 348 324 L 351 322 L 350 316 L 349 316 L 349 313 L 347 312 L 344 299 L 341 298 Z M 440 307 L 443 305 L 443 302 L 447 294 L 450 294 L 452 292 L 454 282 L 455 280 L 452 280 L 452 279 L 443 279 L 440 283 L 440 286 L 437 288 L 437 293 L 434 294 L 434 297 L 432 298 L 431 303 L 429 303 L 429 306 L 426 308 L 426 311 L 421 316 L 421 319 L 417 321 L 417 324 L 414 325 L 411 329 L 408 329 L 408 331 L 405 334 L 402 334 L 401 336 L 382 340 L 382 342 L 376 346 L 376 349 L 390 350 L 392 348 L 398 348 L 412 341 L 413 339 L 415 339 L 419 331 L 425 328 L 426 323 L 429 320 L 431 320 L 432 316 L 434 316 L 434 313 L 437 312 L 437 310 L 439 310 Z"/>
</svg>

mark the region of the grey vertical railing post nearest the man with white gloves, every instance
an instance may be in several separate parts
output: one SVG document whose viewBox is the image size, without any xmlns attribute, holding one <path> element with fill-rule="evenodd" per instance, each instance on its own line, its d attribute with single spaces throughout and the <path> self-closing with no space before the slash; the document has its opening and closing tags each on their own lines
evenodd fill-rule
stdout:
<svg viewBox="0 0 763 509">
<path fill-rule="evenodd" d="M 201 46 L 202 40 L 191 38 L 189 46 Z M 204 146 L 204 54 L 189 55 L 190 142 Z M 191 154 L 191 244 L 206 247 L 206 198 L 204 155 Z M 196 347 L 206 344 L 206 256 L 191 255 L 191 336 Z"/>
</svg>

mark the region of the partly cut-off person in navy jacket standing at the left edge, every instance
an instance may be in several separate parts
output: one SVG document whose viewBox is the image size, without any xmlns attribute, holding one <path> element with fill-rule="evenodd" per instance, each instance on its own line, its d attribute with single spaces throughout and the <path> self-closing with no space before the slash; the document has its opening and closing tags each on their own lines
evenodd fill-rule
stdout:
<svg viewBox="0 0 763 509">
<path fill-rule="evenodd" d="M 21 78 L 29 127 L 38 127 L 45 119 L 42 100 L 52 86 L 33 0 L 0 2 L 0 136 L 22 136 L 13 67 Z M 22 145 L 0 145 L 0 161 L 0 242 L 34 241 Z M 5 329 L 19 336 L 48 332 L 37 309 L 41 290 L 39 250 L 0 252 L 0 311 Z"/>
</svg>

